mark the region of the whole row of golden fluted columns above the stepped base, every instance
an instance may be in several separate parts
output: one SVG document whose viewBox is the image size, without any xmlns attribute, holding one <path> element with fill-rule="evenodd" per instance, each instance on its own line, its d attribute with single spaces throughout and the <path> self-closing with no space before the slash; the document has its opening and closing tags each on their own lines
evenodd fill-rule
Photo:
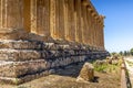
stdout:
<svg viewBox="0 0 133 88">
<path fill-rule="evenodd" d="M 103 20 L 88 0 L 0 0 L 0 32 L 24 29 L 104 50 Z"/>
</svg>

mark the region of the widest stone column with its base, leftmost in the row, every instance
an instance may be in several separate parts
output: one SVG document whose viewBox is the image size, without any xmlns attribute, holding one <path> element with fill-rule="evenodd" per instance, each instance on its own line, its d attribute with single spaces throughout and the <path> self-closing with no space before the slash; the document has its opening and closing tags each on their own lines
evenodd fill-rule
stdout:
<svg viewBox="0 0 133 88">
<path fill-rule="evenodd" d="M 23 0 L 0 0 L 0 38 L 25 38 Z"/>
</svg>

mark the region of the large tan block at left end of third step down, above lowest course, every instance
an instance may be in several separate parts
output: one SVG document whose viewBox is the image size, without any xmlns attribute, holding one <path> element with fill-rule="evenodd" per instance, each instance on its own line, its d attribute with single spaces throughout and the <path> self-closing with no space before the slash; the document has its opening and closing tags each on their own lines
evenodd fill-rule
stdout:
<svg viewBox="0 0 133 88">
<path fill-rule="evenodd" d="M 11 62 L 0 65 L 0 77 L 22 77 L 48 69 L 44 59 L 29 62 Z"/>
</svg>

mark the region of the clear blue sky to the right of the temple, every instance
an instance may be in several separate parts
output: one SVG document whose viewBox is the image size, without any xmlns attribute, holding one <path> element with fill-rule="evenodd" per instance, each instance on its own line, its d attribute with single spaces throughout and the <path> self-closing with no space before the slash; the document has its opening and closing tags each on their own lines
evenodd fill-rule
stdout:
<svg viewBox="0 0 133 88">
<path fill-rule="evenodd" d="M 105 48 L 109 52 L 133 47 L 133 0 L 91 0 L 100 14 L 104 14 Z"/>
</svg>

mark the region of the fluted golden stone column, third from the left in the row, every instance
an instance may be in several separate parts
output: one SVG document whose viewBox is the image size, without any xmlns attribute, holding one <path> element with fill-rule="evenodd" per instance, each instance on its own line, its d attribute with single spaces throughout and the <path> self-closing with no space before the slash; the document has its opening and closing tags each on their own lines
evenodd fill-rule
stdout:
<svg viewBox="0 0 133 88">
<path fill-rule="evenodd" d="M 50 0 L 50 30 L 54 40 L 64 40 L 64 0 Z"/>
</svg>

